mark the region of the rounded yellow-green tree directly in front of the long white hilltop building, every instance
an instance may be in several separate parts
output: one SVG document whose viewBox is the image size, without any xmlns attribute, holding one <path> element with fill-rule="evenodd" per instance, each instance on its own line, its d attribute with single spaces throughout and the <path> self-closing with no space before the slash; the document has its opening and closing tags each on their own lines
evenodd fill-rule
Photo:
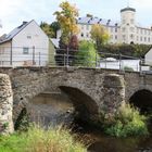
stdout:
<svg viewBox="0 0 152 152">
<path fill-rule="evenodd" d="M 91 38 L 96 42 L 96 48 L 98 50 L 100 50 L 101 46 L 104 45 L 105 42 L 107 42 L 107 40 L 110 38 L 106 29 L 100 24 L 92 25 L 90 34 L 91 34 Z"/>
</svg>

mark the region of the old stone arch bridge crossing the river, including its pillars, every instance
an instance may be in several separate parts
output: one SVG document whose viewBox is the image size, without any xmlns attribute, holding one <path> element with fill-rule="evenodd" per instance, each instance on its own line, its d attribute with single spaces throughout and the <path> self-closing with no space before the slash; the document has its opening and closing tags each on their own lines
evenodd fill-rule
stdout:
<svg viewBox="0 0 152 152">
<path fill-rule="evenodd" d="M 7 122 L 8 130 L 13 130 L 12 122 L 22 110 L 46 91 L 65 92 L 84 119 L 97 121 L 100 113 L 114 114 L 125 101 L 152 106 L 152 75 L 74 67 L 3 67 L 0 73 L 1 130 Z"/>
</svg>

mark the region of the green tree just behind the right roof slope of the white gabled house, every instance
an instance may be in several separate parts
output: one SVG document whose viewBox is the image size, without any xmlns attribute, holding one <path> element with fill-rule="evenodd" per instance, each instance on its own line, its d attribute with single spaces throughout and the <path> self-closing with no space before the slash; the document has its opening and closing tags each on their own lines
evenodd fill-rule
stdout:
<svg viewBox="0 0 152 152">
<path fill-rule="evenodd" d="M 53 29 L 50 27 L 50 25 L 49 25 L 48 23 L 41 22 L 41 23 L 40 23 L 40 27 L 41 27 L 41 29 L 46 33 L 46 35 L 47 35 L 48 37 L 51 37 L 51 38 L 52 38 L 52 37 L 55 36 Z"/>
</svg>

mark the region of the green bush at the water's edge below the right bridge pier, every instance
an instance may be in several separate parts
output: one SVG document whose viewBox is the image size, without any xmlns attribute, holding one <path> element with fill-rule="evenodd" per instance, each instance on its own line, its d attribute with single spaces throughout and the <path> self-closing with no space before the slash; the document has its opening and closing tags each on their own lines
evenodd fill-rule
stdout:
<svg viewBox="0 0 152 152">
<path fill-rule="evenodd" d="M 129 104 L 121 106 L 115 114 L 113 124 L 104 126 L 107 135 L 115 137 L 142 136 L 148 135 L 147 118 L 140 115 L 139 111 Z"/>
</svg>

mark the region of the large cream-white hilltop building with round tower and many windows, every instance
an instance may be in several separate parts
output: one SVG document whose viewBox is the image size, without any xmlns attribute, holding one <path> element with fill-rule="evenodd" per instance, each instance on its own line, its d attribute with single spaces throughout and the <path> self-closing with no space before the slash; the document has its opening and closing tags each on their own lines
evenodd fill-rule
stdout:
<svg viewBox="0 0 152 152">
<path fill-rule="evenodd" d="M 90 30 L 93 24 L 103 25 L 111 38 L 110 43 L 152 43 L 152 29 L 140 27 L 136 22 L 136 10 L 125 8 L 121 10 L 121 22 L 103 20 L 99 17 L 86 16 L 77 20 L 79 27 L 78 38 L 80 40 L 90 40 Z M 58 31 L 58 38 L 61 36 L 61 30 Z"/>
</svg>

